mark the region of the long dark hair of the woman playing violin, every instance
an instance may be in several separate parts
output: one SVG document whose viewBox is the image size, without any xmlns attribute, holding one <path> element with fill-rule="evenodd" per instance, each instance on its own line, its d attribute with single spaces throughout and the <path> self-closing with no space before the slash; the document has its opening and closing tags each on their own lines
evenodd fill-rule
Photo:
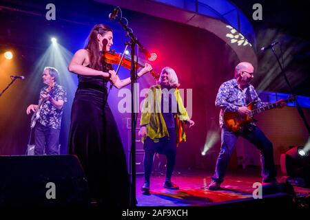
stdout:
<svg viewBox="0 0 310 220">
<path fill-rule="evenodd" d="M 97 24 L 94 25 L 94 28 L 92 28 L 92 31 L 88 36 L 88 42 L 85 46 L 85 50 L 90 53 L 90 68 L 92 69 L 102 70 L 102 56 L 99 53 L 99 43 L 97 35 L 101 34 L 103 36 L 107 32 L 112 32 L 112 29 L 107 25 Z"/>
</svg>

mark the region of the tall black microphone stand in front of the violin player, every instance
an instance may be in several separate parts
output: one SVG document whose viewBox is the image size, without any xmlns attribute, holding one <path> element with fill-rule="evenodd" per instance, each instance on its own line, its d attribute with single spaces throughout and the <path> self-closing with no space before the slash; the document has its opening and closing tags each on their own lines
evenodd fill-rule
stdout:
<svg viewBox="0 0 310 220">
<path fill-rule="evenodd" d="M 118 23 L 121 24 L 122 28 L 125 30 L 127 33 L 127 36 L 130 36 L 130 45 L 131 48 L 131 67 L 130 67 L 130 79 L 131 79 L 131 92 L 132 92 L 132 146 L 130 149 L 130 167 L 131 167 L 131 189 L 130 189 L 130 206 L 136 206 L 136 115 L 135 115 L 135 106 L 136 106 L 136 99 L 135 99 L 135 94 L 136 94 L 136 89 L 134 89 L 134 83 L 136 83 L 136 66 L 134 65 L 134 57 L 135 57 L 135 47 L 138 45 L 138 47 L 141 48 L 141 50 L 145 50 L 143 45 L 140 43 L 140 41 L 136 38 L 134 33 L 132 32 L 131 28 L 128 28 L 127 24 L 123 23 L 121 21 L 122 17 L 117 17 L 114 19 L 118 21 Z"/>
</svg>

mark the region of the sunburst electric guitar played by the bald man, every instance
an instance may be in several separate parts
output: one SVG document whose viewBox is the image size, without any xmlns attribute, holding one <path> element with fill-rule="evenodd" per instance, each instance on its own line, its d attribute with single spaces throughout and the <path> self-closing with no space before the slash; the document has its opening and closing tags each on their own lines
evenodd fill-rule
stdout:
<svg viewBox="0 0 310 220">
<path fill-rule="evenodd" d="M 286 100 L 282 100 L 282 102 L 293 102 L 295 100 L 295 97 L 290 97 Z M 227 129 L 229 131 L 240 131 L 242 129 L 242 126 L 255 121 L 254 115 L 258 113 L 262 113 L 263 111 L 269 110 L 269 109 L 274 109 L 276 107 L 280 106 L 281 102 L 274 102 L 271 104 L 267 104 L 264 107 L 260 107 L 258 109 L 253 109 L 254 108 L 254 102 L 251 102 L 247 105 L 247 109 L 249 109 L 251 112 L 249 114 L 242 114 L 237 112 L 231 112 L 231 111 L 224 111 L 223 113 L 223 122 Z"/>
</svg>

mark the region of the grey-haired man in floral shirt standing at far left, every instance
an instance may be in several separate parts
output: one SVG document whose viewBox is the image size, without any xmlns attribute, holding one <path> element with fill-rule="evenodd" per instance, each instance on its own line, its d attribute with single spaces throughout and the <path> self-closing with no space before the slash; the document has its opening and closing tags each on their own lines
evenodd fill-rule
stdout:
<svg viewBox="0 0 310 220">
<path fill-rule="evenodd" d="M 41 105 L 40 118 L 34 127 L 34 154 L 35 155 L 58 155 L 59 133 L 61 129 L 61 118 L 63 115 L 63 104 L 67 102 L 65 89 L 56 81 L 59 73 L 54 67 L 45 67 L 42 79 L 43 83 L 50 86 L 54 83 L 52 90 L 45 94 L 48 87 L 40 91 L 40 99 L 44 100 Z M 26 110 L 27 114 L 37 109 L 37 104 L 30 104 Z"/>
</svg>

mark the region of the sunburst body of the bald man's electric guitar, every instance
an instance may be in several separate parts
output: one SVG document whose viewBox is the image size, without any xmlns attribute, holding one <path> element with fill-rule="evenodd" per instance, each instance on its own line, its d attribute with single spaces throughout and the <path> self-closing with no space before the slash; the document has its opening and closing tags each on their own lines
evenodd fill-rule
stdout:
<svg viewBox="0 0 310 220">
<path fill-rule="evenodd" d="M 249 103 L 247 109 L 253 109 L 253 102 Z M 229 131 L 240 131 L 242 126 L 253 121 L 253 117 L 247 114 L 240 114 L 237 112 L 224 111 L 223 122 Z"/>
</svg>

